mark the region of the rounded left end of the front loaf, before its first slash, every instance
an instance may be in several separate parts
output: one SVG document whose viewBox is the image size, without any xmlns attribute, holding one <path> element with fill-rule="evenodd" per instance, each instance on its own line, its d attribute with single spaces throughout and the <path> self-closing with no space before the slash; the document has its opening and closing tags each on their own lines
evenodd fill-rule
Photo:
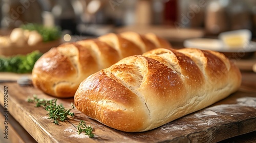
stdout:
<svg viewBox="0 0 256 143">
<path fill-rule="evenodd" d="M 80 84 L 74 98 L 77 109 L 115 129 L 142 128 L 148 117 L 139 97 L 114 76 L 109 77 L 106 71 L 100 70 L 96 75 Z M 141 115 L 141 119 L 138 120 L 134 113 Z"/>
</svg>

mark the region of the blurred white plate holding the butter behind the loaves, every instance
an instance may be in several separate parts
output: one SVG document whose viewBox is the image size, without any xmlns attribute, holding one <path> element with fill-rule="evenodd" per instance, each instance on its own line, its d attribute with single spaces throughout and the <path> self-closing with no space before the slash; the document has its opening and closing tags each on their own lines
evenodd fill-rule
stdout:
<svg viewBox="0 0 256 143">
<path fill-rule="evenodd" d="M 226 47 L 221 40 L 219 39 L 210 39 L 210 38 L 194 38 L 185 40 L 183 45 L 185 47 L 195 47 L 201 50 L 211 50 L 218 52 L 232 52 L 232 53 L 240 53 L 240 52 L 255 52 L 256 51 L 256 42 L 250 41 L 249 44 L 244 47 L 231 49 L 230 47 Z"/>
</svg>

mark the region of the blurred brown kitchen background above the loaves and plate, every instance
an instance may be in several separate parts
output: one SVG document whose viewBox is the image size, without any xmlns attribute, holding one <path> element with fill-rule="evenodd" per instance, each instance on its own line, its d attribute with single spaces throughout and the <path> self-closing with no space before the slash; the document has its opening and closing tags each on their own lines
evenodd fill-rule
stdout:
<svg viewBox="0 0 256 143">
<path fill-rule="evenodd" d="M 59 26 L 76 37 L 127 30 L 169 41 L 248 29 L 256 37 L 255 0 L 0 0 L 1 29 Z"/>
</svg>

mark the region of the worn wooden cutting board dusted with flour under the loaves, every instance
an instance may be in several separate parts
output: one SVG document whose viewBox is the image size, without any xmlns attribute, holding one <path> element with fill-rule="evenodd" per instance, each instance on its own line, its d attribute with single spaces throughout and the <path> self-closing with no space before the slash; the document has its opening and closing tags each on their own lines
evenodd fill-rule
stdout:
<svg viewBox="0 0 256 143">
<path fill-rule="evenodd" d="M 248 78 L 248 81 L 250 80 L 252 79 Z M 250 85 L 246 87 L 249 88 Z M 8 87 L 8 113 L 38 142 L 217 142 L 256 131 L 256 91 L 246 90 L 243 86 L 236 93 L 212 106 L 157 129 L 141 133 L 126 133 L 111 129 L 91 120 L 76 109 L 73 110 L 76 116 L 69 122 L 54 125 L 48 119 L 44 109 L 36 108 L 33 103 L 27 102 L 33 94 L 44 99 L 54 99 L 53 97 L 33 86 L 19 86 L 15 82 L 1 83 L 0 104 L 2 106 L 6 101 L 4 86 Z M 253 86 L 255 87 L 255 84 Z M 69 108 L 73 99 L 58 99 L 58 103 Z M 76 126 L 80 120 L 86 121 L 87 125 L 94 128 L 95 138 L 79 135 L 76 132 Z"/>
</svg>

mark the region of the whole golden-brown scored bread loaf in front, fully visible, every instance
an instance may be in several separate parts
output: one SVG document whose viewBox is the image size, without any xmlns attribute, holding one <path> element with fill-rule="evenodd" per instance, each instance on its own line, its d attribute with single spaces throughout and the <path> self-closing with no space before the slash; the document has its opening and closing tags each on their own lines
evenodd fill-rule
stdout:
<svg viewBox="0 0 256 143">
<path fill-rule="evenodd" d="M 91 75 L 74 102 L 106 126 L 142 132 L 220 101 L 240 84 L 240 70 L 221 53 L 155 49 Z"/>
</svg>

